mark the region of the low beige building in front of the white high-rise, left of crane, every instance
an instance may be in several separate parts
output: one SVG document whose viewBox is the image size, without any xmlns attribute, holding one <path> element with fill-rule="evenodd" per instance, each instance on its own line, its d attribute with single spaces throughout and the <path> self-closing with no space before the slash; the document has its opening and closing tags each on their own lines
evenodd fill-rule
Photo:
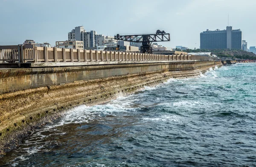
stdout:
<svg viewBox="0 0 256 167">
<path fill-rule="evenodd" d="M 84 42 L 79 40 L 56 41 L 57 48 L 84 49 Z"/>
</svg>

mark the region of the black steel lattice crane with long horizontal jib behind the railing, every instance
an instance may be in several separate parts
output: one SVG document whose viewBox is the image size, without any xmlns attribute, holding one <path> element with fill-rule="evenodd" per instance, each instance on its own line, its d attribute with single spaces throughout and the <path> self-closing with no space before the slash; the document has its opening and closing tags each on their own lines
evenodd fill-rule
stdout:
<svg viewBox="0 0 256 167">
<path fill-rule="evenodd" d="M 140 46 L 141 53 L 152 53 L 152 42 L 170 41 L 170 34 L 165 31 L 157 30 L 155 34 L 142 35 L 115 35 L 115 40 L 124 40 L 136 43 L 142 43 Z"/>
</svg>

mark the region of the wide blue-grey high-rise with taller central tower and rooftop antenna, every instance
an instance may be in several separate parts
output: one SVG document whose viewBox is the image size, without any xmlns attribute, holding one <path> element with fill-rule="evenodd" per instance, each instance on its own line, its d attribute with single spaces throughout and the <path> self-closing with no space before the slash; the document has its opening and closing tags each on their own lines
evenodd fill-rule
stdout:
<svg viewBox="0 0 256 167">
<path fill-rule="evenodd" d="M 200 33 L 201 49 L 242 49 L 242 32 L 227 26 L 225 30 L 207 29 Z"/>
</svg>

